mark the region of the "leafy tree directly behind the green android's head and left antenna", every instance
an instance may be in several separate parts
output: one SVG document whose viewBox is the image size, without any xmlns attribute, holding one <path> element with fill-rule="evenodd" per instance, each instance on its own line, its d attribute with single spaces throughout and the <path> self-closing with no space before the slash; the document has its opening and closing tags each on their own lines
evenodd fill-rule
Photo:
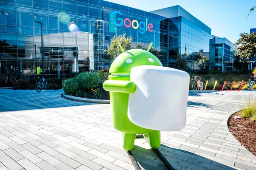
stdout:
<svg viewBox="0 0 256 170">
<path fill-rule="evenodd" d="M 114 35 L 113 39 L 111 40 L 110 45 L 107 46 L 107 49 L 104 51 L 107 52 L 108 56 L 111 58 L 116 58 L 120 54 L 122 54 L 122 50 L 119 48 L 118 43 L 121 44 L 124 51 L 131 49 L 131 40 L 132 37 L 125 37 L 126 33 L 123 33 L 122 35 Z"/>
</svg>

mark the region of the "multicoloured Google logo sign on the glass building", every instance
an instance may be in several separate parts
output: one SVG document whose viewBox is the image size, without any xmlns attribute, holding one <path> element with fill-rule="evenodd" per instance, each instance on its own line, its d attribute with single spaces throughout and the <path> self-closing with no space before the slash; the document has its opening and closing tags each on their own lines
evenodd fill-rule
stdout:
<svg viewBox="0 0 256 170">
<path fill-rule="evenodd" d="M 116 14 L 120 14 L 122 15 L 122 13 L 120 11 L 113 11 L 111 14 L 111 20 L 112 23 L 116 26 L 122 26 L 122 24 L 125 25 L 126 28 L 130 28 L 132 26 L 132 28 L 134 29 L 138 29 L 140 28 L 140 33 L 144 34 L 145 31 L 149 31 L 152 32 L 153 31 L 153 24 L 149 23 L 148 24 L 148 18 L 146 18 L 146 22 L 140 21 L 140 23 L 137 20 L 130 20 L 129 18 L 117 18 L 117 20 L 121 21 L 120 23 L 116 23 L 116 19 L 114 17 L 114 15 Z M 136 23 L 136 24 L 135 24 Z"/>
</svg>

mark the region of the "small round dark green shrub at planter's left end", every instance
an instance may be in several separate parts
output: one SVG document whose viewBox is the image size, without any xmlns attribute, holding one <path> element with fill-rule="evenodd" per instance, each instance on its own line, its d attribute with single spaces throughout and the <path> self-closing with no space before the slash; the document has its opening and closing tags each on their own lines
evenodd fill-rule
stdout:
<svg viewBox="0 0 256 170">
<path fill-rule="evenodd" d="M 79 86 L 74 78 L 66 79 L 62 82 L 62 89 L 67 95 L 75 95 Z"/>
</svg>

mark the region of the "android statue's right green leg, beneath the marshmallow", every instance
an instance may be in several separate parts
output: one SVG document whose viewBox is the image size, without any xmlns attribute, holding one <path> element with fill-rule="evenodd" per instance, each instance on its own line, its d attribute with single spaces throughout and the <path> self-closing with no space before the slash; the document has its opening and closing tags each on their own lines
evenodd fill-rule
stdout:
<svg viewBox="0 0 256 170">
<path fill-rule="evenodd" d="M 157 149 L 161 145 L 160 131 L 143 134 L 146 141 L 153 149 Z"/>
</svg>

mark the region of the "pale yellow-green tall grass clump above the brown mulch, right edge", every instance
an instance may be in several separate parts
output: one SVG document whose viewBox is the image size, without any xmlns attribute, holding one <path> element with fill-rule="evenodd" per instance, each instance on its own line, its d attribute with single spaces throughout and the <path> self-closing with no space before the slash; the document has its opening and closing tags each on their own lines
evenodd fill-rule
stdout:
<svg viewBox="0 0 256 170">
<path fill-rule="evenodd" d="M 249 96 L 246 103 L 241 105 L 241 117 L 249 117 L 251 120 L 256 120 L 256 99 L 254 96 Z"/>
</svg>

